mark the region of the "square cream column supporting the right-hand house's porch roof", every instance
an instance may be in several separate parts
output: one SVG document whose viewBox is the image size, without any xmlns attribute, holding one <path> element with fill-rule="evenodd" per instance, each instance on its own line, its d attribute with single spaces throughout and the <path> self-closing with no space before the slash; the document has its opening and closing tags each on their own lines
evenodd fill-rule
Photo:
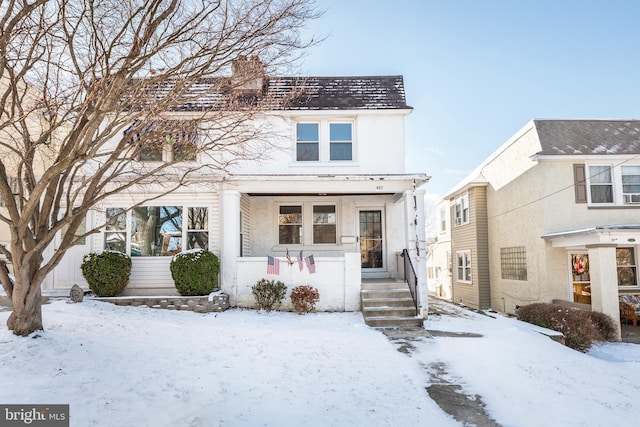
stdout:
<svg viewBox="0 0 640 427">
<path fill-rule="evenodd" d="M 613 318 L 617 328 L 617 339 L 620 341 L 622 334 L 618 305 L 616 245 L 588 245 L 587 249 L 591 277 L 591 308 Z"/>
</svg>

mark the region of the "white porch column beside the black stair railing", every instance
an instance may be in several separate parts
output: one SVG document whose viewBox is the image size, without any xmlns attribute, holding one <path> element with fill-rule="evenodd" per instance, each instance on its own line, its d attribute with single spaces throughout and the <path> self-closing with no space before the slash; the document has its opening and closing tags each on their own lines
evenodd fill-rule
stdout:
<svg viewBox="0 0 640 427">
<path fill-rule="evenodd" d="M 426 318 L 428 312 L 427 249 L 425 240 L 424 190 L 405 191 L 405 233 L 407 249 L 416 270 L 418 312 Z"/>
</svg>

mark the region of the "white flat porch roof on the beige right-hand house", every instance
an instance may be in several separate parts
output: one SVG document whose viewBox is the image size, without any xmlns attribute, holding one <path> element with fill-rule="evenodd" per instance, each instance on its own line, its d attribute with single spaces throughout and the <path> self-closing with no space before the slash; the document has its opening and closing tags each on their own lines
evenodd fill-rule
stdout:
<svg viewBox="0 0 640 427">
<path fill-rule="evenodd" d="M 640 224 L 596 225 L 547 233 L 542 236 L 554 248 L 588 245 L 640 244 Z"/>
</svg>

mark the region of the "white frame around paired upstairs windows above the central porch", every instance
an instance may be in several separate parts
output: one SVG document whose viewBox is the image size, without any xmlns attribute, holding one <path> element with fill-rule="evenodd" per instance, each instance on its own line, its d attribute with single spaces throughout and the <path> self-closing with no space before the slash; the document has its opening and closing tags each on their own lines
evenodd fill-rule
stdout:
<svg viewBox="0 0 640 427">
<path fill-rule="evenodd" d="M 317 124 L 318 125 L 318 160 L 298 160 L 298 124 Z M 351 125 L 351 160 L 331 160 L 331 125 L 332 124 L 350 124 Z M 357 145 L 357 126 L 356 120 L 350 118 L 306 118 L 299 117 L 293 120 L 293 155 L 292 161 L 296 165 L 314 165 L 317 163 L 344 165 L 356 163 L 358 158 Z M 344 141 L 335 141 L 344 142 Z"/>
</svg>

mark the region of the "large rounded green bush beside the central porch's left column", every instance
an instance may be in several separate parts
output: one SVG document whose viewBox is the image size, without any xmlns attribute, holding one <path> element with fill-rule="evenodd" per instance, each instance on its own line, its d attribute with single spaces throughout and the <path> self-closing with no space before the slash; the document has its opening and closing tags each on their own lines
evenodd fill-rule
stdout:
<svg viewBox="0 0 640 427">
<path fill-rule="evenodd" d="M 220 261 L 201 249 L 182 252 L 171 260 L 171 277 L 182 296 L 208 295 L 219 289 Z"/>
</svg>

